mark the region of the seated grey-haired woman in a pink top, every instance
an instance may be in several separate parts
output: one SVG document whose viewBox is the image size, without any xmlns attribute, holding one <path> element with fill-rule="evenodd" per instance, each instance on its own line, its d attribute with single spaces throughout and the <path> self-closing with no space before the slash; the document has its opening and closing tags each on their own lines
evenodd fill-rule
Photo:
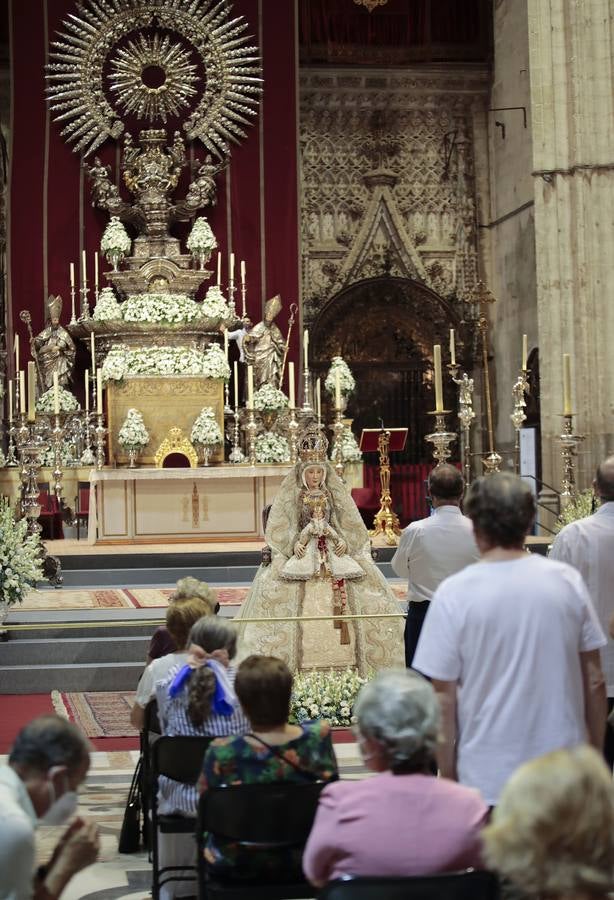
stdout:
<svg viewBox="0 0 614 900">
<path fill-rule="evenodd" d="M 427 875 L 480 865 L 477 791 L 431 774 L 439 706 L 416 672 L 380 672 L 354 706 L 364 781 L 324 788 L 305 847 L 314 885 L 343 875 Z"/>
</svg>

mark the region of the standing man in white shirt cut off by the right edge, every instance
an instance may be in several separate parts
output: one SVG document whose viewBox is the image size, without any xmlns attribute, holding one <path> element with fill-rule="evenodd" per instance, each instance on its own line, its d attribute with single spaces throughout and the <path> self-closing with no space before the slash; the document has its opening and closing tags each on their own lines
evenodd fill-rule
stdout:
<svg viewBox="0 0 614 900">
<path fill-rule="evenodd" d="M 614 615 L 614 456 L 597 469 L 593 490 L 601 501 L 599 509 L 559 531 L 550 559 L 567 562 L 577 569 L 591 595 L 601 627 L 605 632 Z M 614 706 L 614 641 L 610 638 L 601 651 L 606 679 L 608 709 Z M 610 769 L 614 765 L 614 730 L 606 728 L 603 752 Z"/>
</svg>

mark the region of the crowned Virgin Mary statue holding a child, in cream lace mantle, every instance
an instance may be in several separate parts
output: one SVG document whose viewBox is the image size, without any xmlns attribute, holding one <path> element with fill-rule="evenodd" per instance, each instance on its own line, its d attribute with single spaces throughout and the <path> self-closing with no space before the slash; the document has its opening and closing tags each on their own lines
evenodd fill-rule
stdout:
<svg viewBox="0 0 614 900">
<path fill-rule="evenodd" d="M 277 656 L 292 671 L 404 667 L 398 600 L 327 446 L 319 431 L 305 434 L 273 502 L 265 531 L 271 563 L 258 569 L 236 620 L 240 655 Z M 296 620 L 266 621 L 284 617 Z M 264 621 L 241 624 L 252 618 Z"/>
</svg>

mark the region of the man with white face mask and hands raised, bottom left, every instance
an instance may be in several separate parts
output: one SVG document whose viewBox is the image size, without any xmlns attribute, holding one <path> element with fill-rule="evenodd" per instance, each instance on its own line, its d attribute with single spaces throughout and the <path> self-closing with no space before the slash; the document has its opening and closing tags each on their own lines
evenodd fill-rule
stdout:
<svg viewBox="0 0 614 900">
<path fill-rule="evenodd" d="M 8 766 L 0 767 L 0 900 L 55 900 L 95 862 L 98 829 L 75 819 L 49 863 L 34 871 L 36 826 L 74 815 L 89 764 L 87 740 L 59 716 L 34 719 L 17 735 Z"/>
</svg>

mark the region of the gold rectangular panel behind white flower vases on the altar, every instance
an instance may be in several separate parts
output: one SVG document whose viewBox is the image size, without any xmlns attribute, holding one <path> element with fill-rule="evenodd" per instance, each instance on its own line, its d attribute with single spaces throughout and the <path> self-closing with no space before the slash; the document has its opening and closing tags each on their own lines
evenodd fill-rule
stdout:
<svg viewBox="0 0 614 900">
<path fill-rule="evenodd" d="M 224 382 L 221 378 L 200 375 L 143 376 L 126 378 L 107 384 L 109 423 L 109 462 L 122 464 L 128 456 L 117 443 L 117 435 L 129 409 L 138 409 L 149 432 L 149 444 L 139 461 L 154 465 L 156 450 L 173 426 L 181 428 L 188 440 L 196 417 L 203 406 L 210 406 L 222 434 L 224 433 Z M 223 446 L 211 455 L 212 462 L 222 462 Z"/>
</svg>

